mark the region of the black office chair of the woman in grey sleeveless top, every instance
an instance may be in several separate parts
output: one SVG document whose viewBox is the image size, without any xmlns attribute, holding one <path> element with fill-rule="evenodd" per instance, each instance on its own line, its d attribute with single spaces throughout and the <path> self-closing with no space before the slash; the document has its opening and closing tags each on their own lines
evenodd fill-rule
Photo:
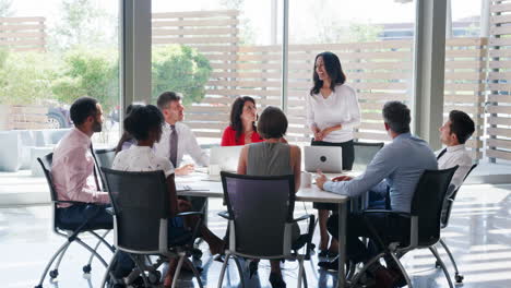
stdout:
<svg viewBox="0 0 511 288">
<path fill-rule="evenodd" d="M 238 256 L 266 260 L 298 260 L 298 287 L 307 287 L 304 260 L 309 259 L 314 216 L 293 218 L 295 208 L 294 176 L 246 176 L 221 172 L 228 209 L 229 247 L 218 278 L 222 287 L 229 257 L 235 260 L 245 287 Z M 309 220 L 308 231 L 296 239 L 293 227 Z M 306 247 L 305 253 L 298 253 Z M 295 251 L 295 253 L 293 253 Z"/>
</svg>

